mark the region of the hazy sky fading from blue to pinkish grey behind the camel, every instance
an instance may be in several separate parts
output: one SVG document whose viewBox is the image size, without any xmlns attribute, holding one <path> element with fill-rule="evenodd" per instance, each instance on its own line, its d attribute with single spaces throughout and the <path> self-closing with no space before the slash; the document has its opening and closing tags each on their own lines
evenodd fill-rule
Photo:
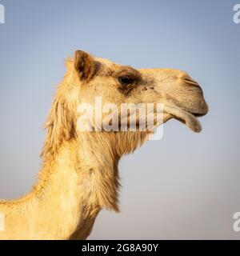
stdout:
<svg viewBox="0 0 240 256">
<path fill-rule="evenodd" d="M 161 141 L 122 158 L 122 212 L 103 210 L 90 238 L 240 239 L 240 1 L 0 3 L 0 198 L 36 181 L 41 126 L 64 59 L 81 49 L 136 68 L 186 70 L 210 106 L 201 134 L 170 121 Z"/>
</svg>

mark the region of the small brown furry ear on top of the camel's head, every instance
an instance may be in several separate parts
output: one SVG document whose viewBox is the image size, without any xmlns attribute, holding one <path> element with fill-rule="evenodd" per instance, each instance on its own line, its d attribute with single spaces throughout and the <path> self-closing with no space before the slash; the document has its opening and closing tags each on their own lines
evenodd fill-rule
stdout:
<svg viewBox="0 0 240 256">
<path fill-rule="evenodd" d="M 89 82 L 90 79 L 94 77 L 94 58 L 90 54 L 87 54 L 85 51 L 75 51 L 74 67 L 78 72 L 78 77 L 80 80 Z"/>
</svg>

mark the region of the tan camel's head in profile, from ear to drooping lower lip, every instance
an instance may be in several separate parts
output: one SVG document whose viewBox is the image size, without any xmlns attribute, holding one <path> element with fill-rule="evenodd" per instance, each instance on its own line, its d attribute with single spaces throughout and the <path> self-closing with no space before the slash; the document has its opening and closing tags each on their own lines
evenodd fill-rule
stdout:
<svg viewBox="0 0 240 256">
<path fill-rule="evenodd" d="M 195 132 L 201 130 L 198 117 L 205 115 L 208 107 L 198 82 L 186 72 L 173 69 L 136 70 L 106 59 L 93 58 L 81 50 L 75 53 L 74 67 L 81 87 L 80 102 L 93 105 L 94 98 L 98 96 L 102 98 L 102 105 L 112 102 L 119 111 L 122 103 L 134 103 L 135 106 L 162 103 L 163 122 L 175 118 Z"/>
</svg>

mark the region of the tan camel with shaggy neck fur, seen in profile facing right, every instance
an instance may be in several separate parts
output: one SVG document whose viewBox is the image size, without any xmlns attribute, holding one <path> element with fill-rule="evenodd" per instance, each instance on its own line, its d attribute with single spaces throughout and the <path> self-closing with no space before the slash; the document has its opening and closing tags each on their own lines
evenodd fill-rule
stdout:
<svg viewBox="0 0 240 256">
<path fill-rule="evenodd" d="M 153 132 L 78 130 L 79 103 L 96 96 L 117 106 L 161 102 L 162 123 L 175 118 L 195 132 L 208 111 L 202 88 L 186 72 L 137 70 L 76 50 L 46 120 L 37 184 L 22 198 L 0 201 L 0 239 L 86 239 L 100 210 L 119 211 L 118 161 Z"/>
</svg>

